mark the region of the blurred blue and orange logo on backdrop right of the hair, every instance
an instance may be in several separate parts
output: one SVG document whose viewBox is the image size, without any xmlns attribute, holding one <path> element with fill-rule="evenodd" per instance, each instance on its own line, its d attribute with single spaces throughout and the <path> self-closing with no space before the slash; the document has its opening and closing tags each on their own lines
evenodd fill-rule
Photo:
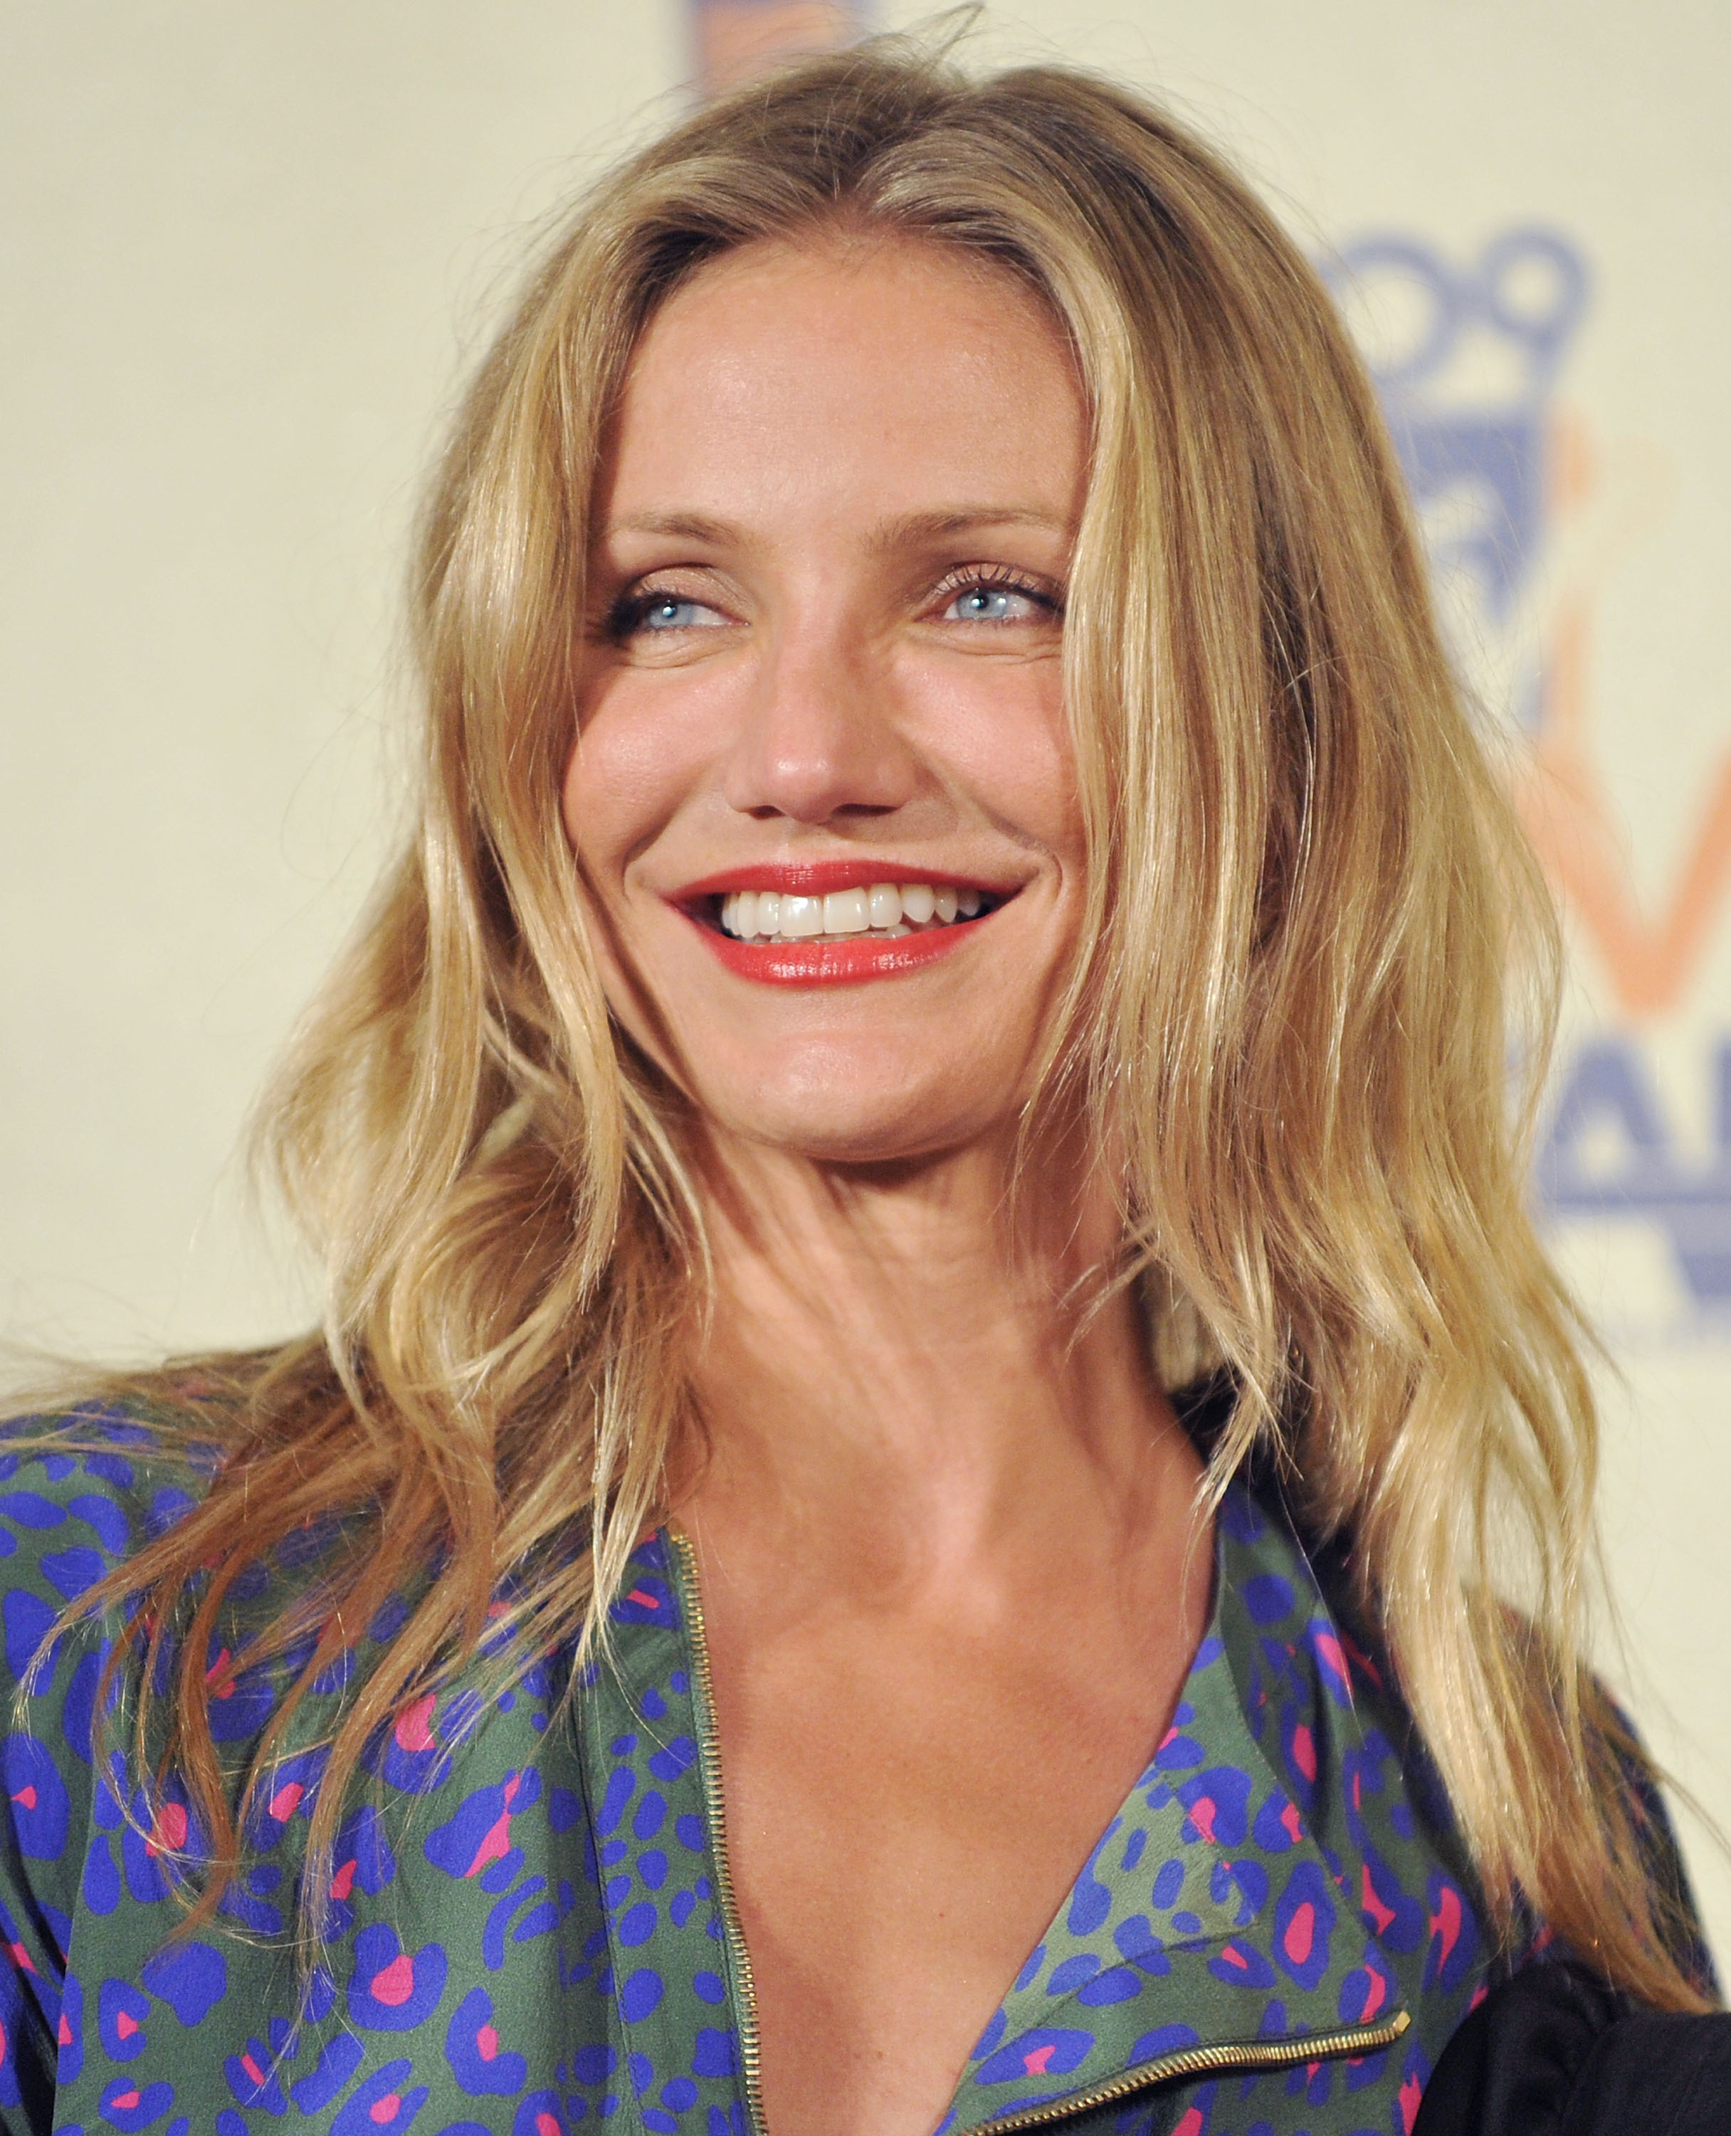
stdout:
<svg viewBox="0 0 1731 2136">
<path fill-rule="evenodd" d="M 1643 921 L 1603 835 L 1616 807 L 1586 741 L 1584 609 L 1537 613 L 1537 566 L 1571 502 L 1556 382 L 1588 310 L 1586 263 L 1550 229 L 1505 231 L 1464 263 L 1409 233 L 1377 233 L 1323 271 L 1377 380 L 1462 666 L 1473 675 L 1503 656 L 1492 698 L 1518 722 L 1535 778 L 1562 773 L 1528 814 L 1552 880 L 1624 1021 L 1688 1008 L 1731 886 L 1731 812 L 1708 812 L 1671 910 Z M 1712 1117 L 1697 1156 L 1626 1027 L 1577 1042 L 1554 1083 L 1535 1179 L 1550 1222 L 1656 1226 L 1678 1299 L 1697 1316 L 1731 1309 L 1731 1040 L 1703 1053 Z"/>
</svg>

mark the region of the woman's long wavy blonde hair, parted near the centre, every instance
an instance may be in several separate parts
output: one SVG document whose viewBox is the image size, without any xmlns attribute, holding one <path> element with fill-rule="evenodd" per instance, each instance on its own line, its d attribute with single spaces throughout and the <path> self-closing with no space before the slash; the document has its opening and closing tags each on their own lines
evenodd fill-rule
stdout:
<svg viewBox="0 0 1731 2136">
<path fill-rule="evenodd" d="M 209 1835 L 196 1905 L 388 1596 L 414 1608 L 333 1739 L 307 1890 L 369 1739 L 474 1662 L 502 1581 L 519 1651 L 587 1653 L 662 1510 L 706 1258 L 679 1102 L 608 1017 L 559 822 L 591 487 L 655 305 L 835 224 L 1020 276 L 1086 387 L 1065 677 L 1089 912 L 1044 1085 L 1112 1124 L 1118 1273 L 1168 1384 L 1236 1382 L 1210 1485 L 1264 1446 L 1306 1529 L 1351 1540 L 1505 1935 L 1537 1914 L 1699 2008 L 1643 1760 L 1584 1666 L 1594 1412 L 1507 1100 L 1515 1023 L 1543 1066 L 1554 921 L 1364 370 L 1270 211 L 1161 111 L 899 41 L 762 79 L 604 177 L 457 419 L 414 575 L 418 827 L 260 1115 L 329 1260 L 324 1326 L 109 1388 L 164 1444 L 220 1444 L 196 1508 L 79 1604 L 124 1613 L 139 1752 Z M 226 1773 L 207 1634 L 333 1517 L 346 1549 L 245 1655 L 301 1643 L 292 1690 Z"/>
</svg>

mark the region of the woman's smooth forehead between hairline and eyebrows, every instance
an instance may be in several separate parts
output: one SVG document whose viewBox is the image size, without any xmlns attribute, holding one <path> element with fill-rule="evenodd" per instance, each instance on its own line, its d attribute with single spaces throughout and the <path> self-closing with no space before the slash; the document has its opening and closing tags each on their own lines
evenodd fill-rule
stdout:
<svg viewBox="0 0 1731 2136">
<path fill-rule="evenodd" d="M 1074 521 L 1084 431 L 1063 329 L 1010 269 L 905 237 L 760 241 L 651 318 L 604 513 L 1014 498 Z"/>
</svg>

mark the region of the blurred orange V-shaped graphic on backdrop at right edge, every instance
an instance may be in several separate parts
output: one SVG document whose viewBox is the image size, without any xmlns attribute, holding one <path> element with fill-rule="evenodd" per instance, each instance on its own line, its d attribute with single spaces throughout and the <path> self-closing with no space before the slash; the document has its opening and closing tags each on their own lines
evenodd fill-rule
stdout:
<svg viewBox="0 0 1731 2136">
<path fill-rule="evenodd" d="M 1731 758 L 1684 854 L 1669 906 L 1648 916 L 1629 880 L 1626 839 L 1586 739 L 1586 617 L 1558 617 L 1533 778 L 1518 788 L 1545 874 L 1579 912 L 1624 1015 L 1669 1008 L 1686 989 L 1731 891 Z"/>
</svg>

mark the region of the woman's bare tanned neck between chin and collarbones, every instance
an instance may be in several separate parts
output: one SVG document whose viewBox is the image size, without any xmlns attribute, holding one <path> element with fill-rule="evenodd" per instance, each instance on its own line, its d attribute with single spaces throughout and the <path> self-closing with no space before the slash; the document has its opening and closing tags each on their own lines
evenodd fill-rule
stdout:
<svg viewBox="0 0 1731 2136">
<path fill-rule="evenodd" d="M 1074 1147 L 1016 1196 L 982 1147 L 890 1171 L 715 1145 L 706 1177 L 709 1455 L 683 1517 L 941 1574 L 1050 1519 L 1127 1536 L 1193 1487 L 1138 1303 L 1110 1288 L 1112 1196 Z"/>
</svg>

